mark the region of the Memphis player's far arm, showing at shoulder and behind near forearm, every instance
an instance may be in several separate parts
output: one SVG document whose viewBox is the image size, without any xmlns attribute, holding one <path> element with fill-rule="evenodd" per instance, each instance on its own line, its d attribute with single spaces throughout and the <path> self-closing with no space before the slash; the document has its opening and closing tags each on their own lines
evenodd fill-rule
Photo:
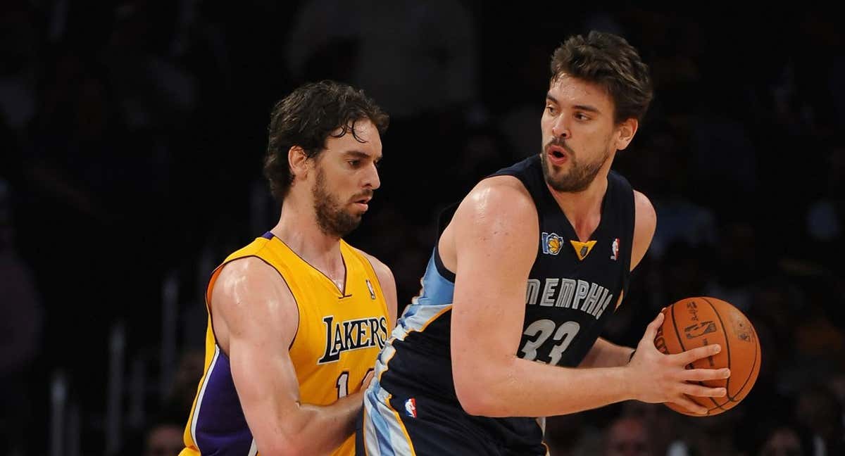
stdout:
<svg viewBox="0 0 845 456">
<path fill-rule="evenodd" d="M 631 245 L 631 270 L 633 271 L 646 256 L 654 230 L 657 228 L 657 213 L 646 195 L 634 191 L 634 242 Z M 621 301 L 624 296 L 619 296 Z M 616 345 L 599 338 L 587 353 L 580 367 L 624 366 L 630 361 L 634 349 Z"/>
</svg>

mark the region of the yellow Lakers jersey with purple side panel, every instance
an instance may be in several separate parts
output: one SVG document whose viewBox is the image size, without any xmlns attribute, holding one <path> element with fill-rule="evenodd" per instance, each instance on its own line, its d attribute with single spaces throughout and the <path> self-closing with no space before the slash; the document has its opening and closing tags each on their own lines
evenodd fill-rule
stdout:
<svg viewBox="0 0 845 456">
<path fill-rule="evenodd" d="M 386 301 L 372 264 L 342 240 L 341 255 L 346 265 L 342 289 L 267 232 L 226 258 L 211 274 L 205 293 L 209 307 L 221 269 L 238 258 L 261 258 L 281 274 L 299 312 L 289 355 L 304 404 L 328 405 L 356 393 L 390 332 Z M 184 441 L 181 455 L 258 453 L 237 399 L 228 357 L 217 345 L 211 328 L 210 312 L 204 374 L 185 426 Z M 354 453 L 352 436 L 332 454 Z"/>
</svg>

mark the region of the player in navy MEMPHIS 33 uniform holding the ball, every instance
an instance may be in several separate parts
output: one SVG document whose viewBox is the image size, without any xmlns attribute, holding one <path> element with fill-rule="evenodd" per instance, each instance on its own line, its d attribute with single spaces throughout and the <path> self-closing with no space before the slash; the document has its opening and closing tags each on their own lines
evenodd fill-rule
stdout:
<svg viewBox="0 0 845 456">
<path fill-rule="evenodd" d="M 651 101 L 648 68 L 607 33 L 553 53 L 537 155 L 484 178 L 444 211 L 423 290 L 397 323 L 364 396 L 357 451 L 545 454 L 542 420 L 628 399 L 706 409 L 686 395 L 727 369 L 717 353 L 636 350 L 599 337 L 646 253 L 651 202 L 611 171 Z"/>
</svg>

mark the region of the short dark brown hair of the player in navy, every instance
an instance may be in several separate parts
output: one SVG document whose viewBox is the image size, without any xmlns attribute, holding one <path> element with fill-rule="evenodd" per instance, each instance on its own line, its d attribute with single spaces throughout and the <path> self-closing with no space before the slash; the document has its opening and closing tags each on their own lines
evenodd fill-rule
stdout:
<svg viewBox="0 0 845 456">
<path fill-rule="evenodd" d="M 591 31 L 564 41 L 552 56 L 552 81 L 567 73 L 598 84 L 613 100 L 613 122 L 642 121 L 653 90 L 648 66 L 639 52 L 619 35 Z"/>
</svg>

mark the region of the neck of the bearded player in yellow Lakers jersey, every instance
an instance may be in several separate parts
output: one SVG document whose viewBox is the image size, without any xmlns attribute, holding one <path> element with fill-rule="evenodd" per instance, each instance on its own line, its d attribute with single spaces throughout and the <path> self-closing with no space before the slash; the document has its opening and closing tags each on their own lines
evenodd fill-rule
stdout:
<svg viewBox="0 0 845 456">
<path fill-rule="evenodd" d="M 308 263 L 327 275 L 343 269 L 340 238 L 325 234 L 317 225 L 313 204 L 286 198 L 279 223 L 270 232 Z M 326 269 L 326 270 L 324 270 Z"/>
</svg>

